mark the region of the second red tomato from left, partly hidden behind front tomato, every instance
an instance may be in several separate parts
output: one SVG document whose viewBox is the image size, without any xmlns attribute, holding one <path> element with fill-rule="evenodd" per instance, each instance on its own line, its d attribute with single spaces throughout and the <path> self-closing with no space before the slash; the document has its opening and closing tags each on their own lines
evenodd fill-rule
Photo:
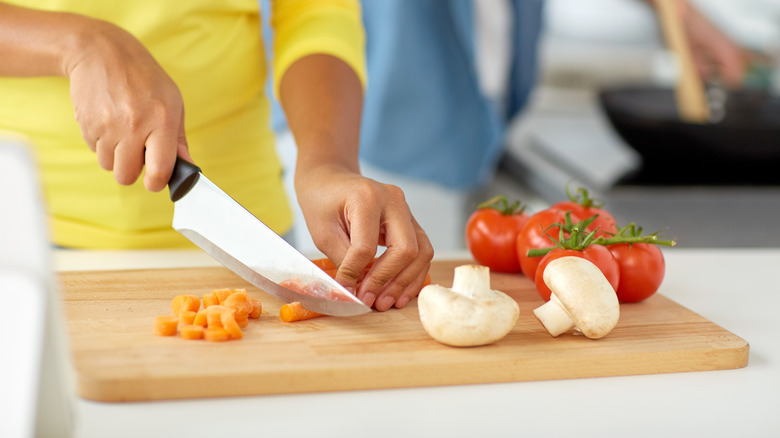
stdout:
<svg viewBox="0 0 780 438">
<path fill-rule="evenodd" d="M 580 219 L 572 214 L 571 220 L 578 222 Z M 552 239 L 558 240 L 560 227 L 548 227 L 555 223 L 565 222 L 565 211 L 545 209 L 531 215 L 528 223 L 520 230 L 517 235 L 517 257 L 520 260 L 520 268 L 526 277 L 532 280 L 535 278 L 536 268 L 542 260 L 542 257 L 528 257 L 528 250 L 555 246 Z"/>
</svg>

